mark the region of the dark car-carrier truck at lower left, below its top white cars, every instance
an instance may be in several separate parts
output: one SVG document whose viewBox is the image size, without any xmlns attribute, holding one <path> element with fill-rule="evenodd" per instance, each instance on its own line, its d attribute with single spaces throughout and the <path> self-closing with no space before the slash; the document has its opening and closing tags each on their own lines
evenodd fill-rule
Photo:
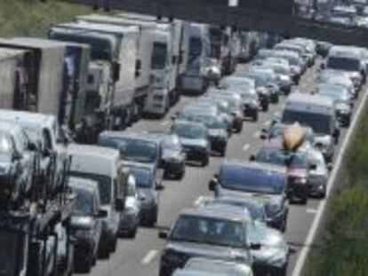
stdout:
<svg viewBox="0 0 368 276">
<path fill-rule="evenodd" d="M 25 184 L 30 189 L 24 193 L 21 185 L 15 183 L 17 175 L 21 174 L 21 157 L 12 156 L 14 158 L 6 165 L 16 169 L 2 170 L 0 176 L 1 273 L 9 276 L 69 275 L 73 272 L 70 218 L 75 197 L 68 189 L 68 171 L 57 193 L 47 193 L 52 185 L 48 181 L 50 178 L 38 177 L 39 170 L 35 166 L 34 177 Z M 36 154 L 35 164 L 39 157 L 40 154 Z"/>
</svg>

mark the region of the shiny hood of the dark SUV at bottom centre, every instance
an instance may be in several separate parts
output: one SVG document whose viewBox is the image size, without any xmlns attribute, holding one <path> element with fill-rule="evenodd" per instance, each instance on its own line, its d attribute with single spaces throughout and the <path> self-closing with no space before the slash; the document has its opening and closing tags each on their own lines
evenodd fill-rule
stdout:
<svg viewBox="0 0 368 276">
<path fill-rule="evenodd" d="M 247 251 L 242 248 L 230 248 L 204 243 L 169 241 L 165 249 L 171 249 L 188 256 L 204 256 L 214 259 L 244 260 L 249 262 Z"/>
</svg>

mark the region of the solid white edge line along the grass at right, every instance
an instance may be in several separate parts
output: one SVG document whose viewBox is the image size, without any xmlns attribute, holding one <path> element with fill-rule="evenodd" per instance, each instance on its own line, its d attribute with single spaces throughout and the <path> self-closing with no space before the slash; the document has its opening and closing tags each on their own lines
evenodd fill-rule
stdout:
<svg viewBox="0 0 368 276">
<path fill-rule="evenodd" d="M 320 224 L 322 216 L 324 214 L 324 209 L 326 207 L 328 197 L 331 193 L 332 185 L 334 185 L 336 177 L 338 175 L 338 171 L 340 169 L 343 154 L 345 153 L 345 150 L 348 147 L 348 141 L 350 140 L 351 136 L 353 135 L 353 130 L 356 128 L 356 122 L 360 118 L 360 116 L 361 116 L 361 114 L 364 110 L 363 106 L 364 106 L 364 102 L 366 101 L 366 99 L 367 99 L 367 92 L 365 91 L 363 99 L 361 99 L 360 105 L 359 105 L 358 109 L 356 110 L 356 115 L 354 116 L 353 122 L 351 123 L 350 128 L 347 131 L 347 135 L 345 136 L 345 139 L 342 142 L 342 145 L 341 145 L 340 151 L 339 151 L 339 155 L 336 159 L 335 166 L 333 166 L 333 170 L 332 170 L 330 179 L 328 180 L 328 183 L 327 183 L 326 199 L 324 201 L 320 201 L 320 203 L 318 204 L 316 217 L 313 220 L 313 223 L 309 228 L 307 239 L 306 239 L 306 241 L 304 241 L 305 247 L 303 247 L 300 251 L 300 255 L 298 256 L 298 260 L 296 261 L 294 269 L 292 270 L 292 276 L 300 276 L 301 271 L 304 267 L 304 264 L 306 263 L 308 253 L 309 253 L 309 250 L 310 250 L 309 245 L 311 245 L 312 242 L 315 240 L 318 225 Z"/>
</svg>

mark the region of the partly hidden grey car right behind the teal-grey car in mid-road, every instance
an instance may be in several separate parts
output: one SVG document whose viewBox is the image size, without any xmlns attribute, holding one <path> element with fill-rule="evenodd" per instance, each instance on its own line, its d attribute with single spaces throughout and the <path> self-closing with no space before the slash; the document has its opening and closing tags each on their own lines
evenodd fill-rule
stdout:
<svg viewBox="0 0 368 276">
<path fill-rule="evenodd" d="M 212 152 L 225 156 L 228 147 L 228 128 L 226 122 L 221 118 L 211 115 L 194 115 L 188 118 L 192 122 L 200 122 L 208 131 Z"/>
</svg>

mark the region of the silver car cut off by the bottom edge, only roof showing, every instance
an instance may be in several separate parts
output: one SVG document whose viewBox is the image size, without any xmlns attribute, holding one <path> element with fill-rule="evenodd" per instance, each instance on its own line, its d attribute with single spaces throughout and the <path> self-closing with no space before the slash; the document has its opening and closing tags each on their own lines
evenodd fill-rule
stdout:
<svg viewBox="0 0 368 276">
<path fill-rule="evenodd" d="M 215 260 L 204 257 L 192 257 L 184 266 L 184 270 L 208 272 L 211 275 L 220 274 L 225 276 L 252 276 L 252 267 L 247 264 Z"/>
</svg>

